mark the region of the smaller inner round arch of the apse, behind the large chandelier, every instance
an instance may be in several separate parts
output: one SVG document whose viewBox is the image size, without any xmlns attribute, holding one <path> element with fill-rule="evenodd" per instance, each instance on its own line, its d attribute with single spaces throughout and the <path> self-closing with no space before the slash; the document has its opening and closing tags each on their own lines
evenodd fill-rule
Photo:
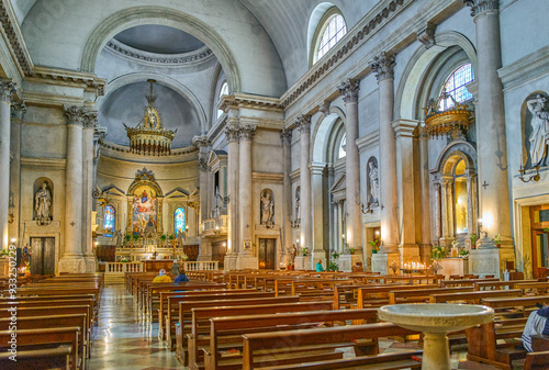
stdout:
<svg viewBox="0 0 549 370">
<path fill-rule="evenodd" d="M 116 77 L 112 81 L 110 81 L 107 85 L 105 89 L 105 94 L 104 97 L 100 97 L 97 101 L 97 109 L 98 111 L 101 109 L 101 105 L 109 99 L 109 96 L 116 91 L 117 89 L 132 85 L 135 82 L 143 82 L 146 81 L 147 79 L 155 79 L 158 83 L 170 88 L 171 90 L 176 91 L 179 93 L 181 97 L 183 97 L 194 109 L 197 112 L 197 116 L 199 117 L 200 122 L 200 131 L 202 134 L 206 133 L 210 127 L 208 124 L 208 117 L 204 111 L 204 108 L 198 100 L 198 98 L 192 93 L 191 90 L 189 90 L 184 85 L 182 85 L 179 81 L 176 81 L 165 75 L 160 74 L 152 74 L 152 72 L 133 72 L 133 74 L 127 74 L 123 75 L 120 77 Z"/>
</svg>

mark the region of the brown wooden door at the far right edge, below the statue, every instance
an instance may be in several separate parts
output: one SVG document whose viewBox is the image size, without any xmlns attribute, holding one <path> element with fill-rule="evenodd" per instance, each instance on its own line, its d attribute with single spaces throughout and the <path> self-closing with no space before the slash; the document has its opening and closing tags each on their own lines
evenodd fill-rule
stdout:
<svg viewBox="0 0 549 370">
<path fill-rule="evenodd" d="M 534 277 L 545 278 L 549 269 L 549 204 L 531 206 L 530 221 Z"/>
</svg>

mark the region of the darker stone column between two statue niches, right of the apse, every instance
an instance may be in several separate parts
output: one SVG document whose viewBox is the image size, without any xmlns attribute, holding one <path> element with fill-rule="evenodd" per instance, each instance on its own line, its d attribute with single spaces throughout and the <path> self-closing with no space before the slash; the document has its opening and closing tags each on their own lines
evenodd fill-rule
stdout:
<svg viewBox="0 0 549 370">
<path fill-rule="evenodd" d="M 280 139 L 282 141 L 282 171 L 284 173 L 284 178 L 282 180 L 282 227 L 283 227 L 283 236 L 282 236 L 282 247 L 281 247 L 281 256 L 283 260 L 283 256 L 290 248 L 292 247 L 292 179 L 290 178 L 290 171 L 292 169 L 292 131 L 291 130 L 282 130 L 280 133 Z M 280 261 L 279 261 L 280 262 Z"/>
</svg>

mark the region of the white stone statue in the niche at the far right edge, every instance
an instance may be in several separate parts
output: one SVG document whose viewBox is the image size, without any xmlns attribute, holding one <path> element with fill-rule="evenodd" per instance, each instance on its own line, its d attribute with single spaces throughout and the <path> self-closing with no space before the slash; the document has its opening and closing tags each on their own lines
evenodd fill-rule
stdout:
<svg viewBox="0 0 549 370">
<path fill-rule="evenodd" d="M 537 94 L 535 99 L 526 102 L 531 113 L 530 158 L 531 166 L 542 166 L 547 158 L 547 145 L 549 142 L 549 112 L 547 110 L 547 98 Z"/>
</svg>

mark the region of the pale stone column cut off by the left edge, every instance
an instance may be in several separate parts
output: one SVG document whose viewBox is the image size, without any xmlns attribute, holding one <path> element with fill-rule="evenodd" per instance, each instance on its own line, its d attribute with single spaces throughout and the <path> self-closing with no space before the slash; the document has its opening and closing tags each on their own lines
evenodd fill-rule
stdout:
<svg viewBox="0 0 549 370">
<path fill-rule="evenodd" d="M 9 246 L 8 240 L 8 214 L 10 206 L 10 126 L 11 98 L 15 92 L 15 83 L 12 81 L 0 81 L 0 248 Z"/>
</svg>

